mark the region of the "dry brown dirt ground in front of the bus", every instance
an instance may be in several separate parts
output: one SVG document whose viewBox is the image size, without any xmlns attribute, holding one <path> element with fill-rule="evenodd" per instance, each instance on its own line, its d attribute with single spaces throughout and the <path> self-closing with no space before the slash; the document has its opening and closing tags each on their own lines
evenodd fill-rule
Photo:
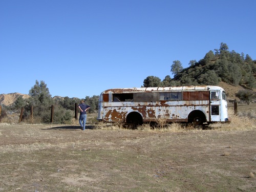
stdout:
<svg viewBox="0 0 256 192">
<path fill-rule="evenodd" d="M 0 124 L 0 191 L 256 191 L 256 130 Z"/>
</svg>

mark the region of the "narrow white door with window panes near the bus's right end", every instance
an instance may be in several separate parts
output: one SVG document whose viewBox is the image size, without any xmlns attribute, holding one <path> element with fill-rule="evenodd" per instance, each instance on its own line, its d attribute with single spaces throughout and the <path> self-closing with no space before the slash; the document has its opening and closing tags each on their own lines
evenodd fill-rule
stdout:
<svg viewBox="0 0 256 192">
<path fill-rule="evenodd" d="M 220 91 L 210 91 L 210 121 L 221 120 Z"/>
</svg>

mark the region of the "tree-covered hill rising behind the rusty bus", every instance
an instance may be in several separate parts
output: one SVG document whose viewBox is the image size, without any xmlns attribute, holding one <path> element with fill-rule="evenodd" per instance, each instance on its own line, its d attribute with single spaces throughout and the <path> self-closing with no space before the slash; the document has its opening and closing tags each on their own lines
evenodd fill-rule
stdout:
<svg viewBox="0 0 256 192">
<path fill-rule="evenodd" d="M 215 52 L 214 52 L 215 51 Z M 219 85 L 226 82 L 233 86 L 243 86 L 246 89 L 256 87 L 256 60 L 244 53 L 229 51 L 225 43 L 219 49 L 209 51 L 199 61 L 190 60 L 189 67 L 183 68 L 179 60 L 173 61 L 170 72 L 161 81 L 159 77 L 148 76 L 143 81 L 143 87 L 197 86 Z"/>
</svg>

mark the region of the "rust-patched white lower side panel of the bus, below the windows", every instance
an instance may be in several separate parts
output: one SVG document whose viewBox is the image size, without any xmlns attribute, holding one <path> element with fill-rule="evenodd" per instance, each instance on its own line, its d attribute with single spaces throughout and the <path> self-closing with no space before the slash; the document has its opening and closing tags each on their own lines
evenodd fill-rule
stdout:
<svg viewBox="0 0 256 192">
<path fill-rule="evenodd" d="M 209 101 L 157 101 L 157 102 L 101 102 L 98 120 L 106 122 L 126 121 L 131 112 L 141 114 L 143 122 L 157 121 L 159 118 L 169 122 L 187 122 L 194 110 L 202 111 L 209 121 Z"/>
</svg>

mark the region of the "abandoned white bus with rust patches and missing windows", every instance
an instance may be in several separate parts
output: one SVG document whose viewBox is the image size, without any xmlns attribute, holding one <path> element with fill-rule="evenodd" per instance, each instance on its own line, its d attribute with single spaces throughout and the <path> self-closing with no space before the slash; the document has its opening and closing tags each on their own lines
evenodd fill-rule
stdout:
<svg viewBox="0 0 256 192">
<path fill-rule="evenodd" d="M 124 88 L 99 96 L 99 121 L 136 126 L 159 118 L 195 125 L 228 122 L 225 91 L 217 86 Z"/>
</svg>

